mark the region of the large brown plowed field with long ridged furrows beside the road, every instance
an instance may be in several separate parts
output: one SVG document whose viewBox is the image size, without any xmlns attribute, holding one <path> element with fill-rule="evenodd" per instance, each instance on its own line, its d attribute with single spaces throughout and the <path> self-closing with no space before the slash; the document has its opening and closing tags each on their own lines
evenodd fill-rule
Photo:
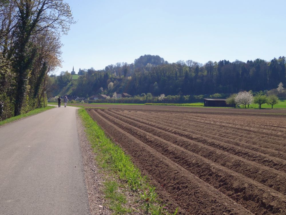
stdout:
<svg viewBox="0 0 286 215">
<path fill-rule="evenodd" d="M 88 112 L 171 208 L 194 215 L 286 214 L 285 115 L 128 108 Z"/>
</svg>

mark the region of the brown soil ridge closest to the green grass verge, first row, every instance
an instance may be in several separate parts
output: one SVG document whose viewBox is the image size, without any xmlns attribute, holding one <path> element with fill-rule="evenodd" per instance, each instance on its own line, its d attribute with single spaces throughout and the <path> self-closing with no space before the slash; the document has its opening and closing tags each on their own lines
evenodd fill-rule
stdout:
<svg viewBox="0 0 286 215">
<path fill-rule="evenodd" d="M 116 142 L 120 142 L 126 153 L 133 157 L 134 163 L 164 187 L 163 190 L 172 196 L 172 201 L 183 210 L 190 214 L 216 214 L 218 210 L 231 211 L 234 215 L 253 214 L 208 183 L 109 122 L 100 113 L 90 111 L 90 115 L 107 134 L 113 136 Z"/>
</svg>

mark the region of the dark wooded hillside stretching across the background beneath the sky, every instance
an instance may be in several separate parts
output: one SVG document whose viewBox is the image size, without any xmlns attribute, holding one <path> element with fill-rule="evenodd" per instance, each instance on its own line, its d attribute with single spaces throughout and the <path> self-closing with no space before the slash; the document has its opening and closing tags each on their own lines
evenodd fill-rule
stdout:
<svg viewBox="0 0 286 215">
<path fill-rule="evenodd" d="M 69 72 L 49 76 L 49 96 L 106 94 L 114 92 L 153 96 L 231 94 L 242 90 L 266 91 L 285 83 L 285 56 L 271 61 L 256 59 L 208 61 L 193 60 L 168 63 L 156 55 L 140 56 L 134 63 L 110 64 L 103 70 L 79 69 L 77 80 Z"/>
</svg>

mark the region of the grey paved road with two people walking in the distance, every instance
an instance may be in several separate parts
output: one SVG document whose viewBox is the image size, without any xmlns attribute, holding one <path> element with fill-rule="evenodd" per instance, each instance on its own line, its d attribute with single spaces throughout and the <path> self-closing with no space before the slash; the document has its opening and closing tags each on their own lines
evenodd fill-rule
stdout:
<svg viewBox="0 0 286 215">
<path fill-rule="evenodd" d="M 0 128 L 0 214 L 89 214 L 76 107 Z"/>
</svg>

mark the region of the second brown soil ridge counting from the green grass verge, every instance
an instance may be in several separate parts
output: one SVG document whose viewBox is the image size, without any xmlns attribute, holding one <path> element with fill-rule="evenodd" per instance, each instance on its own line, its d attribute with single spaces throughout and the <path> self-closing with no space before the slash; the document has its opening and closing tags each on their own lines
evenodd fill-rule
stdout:
<svg viewBox="0 0 286 215">
<path fill-rule="evenodd" d="M 286 198 L 281 193 L 225 167 L 212 163 L 208 159 L 191 153 L 180 146 L 140 130 L 140 128 L 122 122 L 113 117 L 115 114 L 111 112 L 98 112 L 114 125 L 149 145 L 192 174 L 197 175 L 203 181 L 219 189 L 219 191 L 231 197 L 249 211 L 259 214 L 286 213 Z M 232 180 L 229 180 L 230 178 Z M 266 198 L 261 199 L 262 195 Z M 251 199 L 249 199 L 249 196 L 251 196 Z M 265 213 L 265 210 L 267 210 L 267 213 Z"/>
</svg>

